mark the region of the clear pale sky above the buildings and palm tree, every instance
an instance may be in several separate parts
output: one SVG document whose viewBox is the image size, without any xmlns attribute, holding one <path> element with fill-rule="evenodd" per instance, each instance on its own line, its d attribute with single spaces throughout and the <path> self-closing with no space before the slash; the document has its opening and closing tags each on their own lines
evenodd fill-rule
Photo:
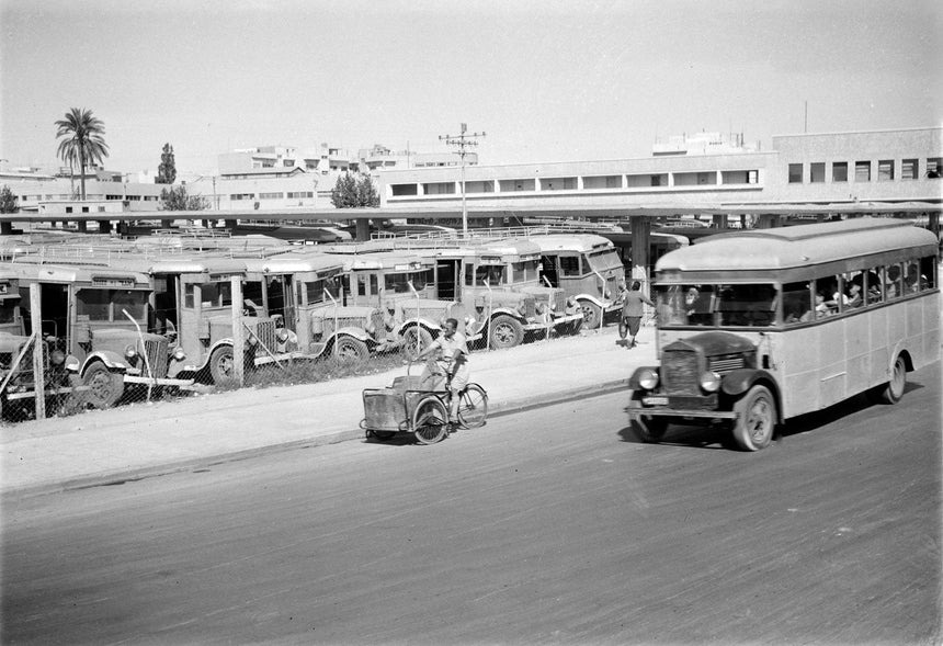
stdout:
<svg viewBox="0 0 943 646">
<path fill-rule="evenodd" d="M 482 165 L 648 157 L 697 132 L 943 125 L 939 0 L 0 0 L 0 168 L 57 168 L 54 122 L 104 122 L 105 168 L 178 172 L 265 145 Z"/>
</svg>

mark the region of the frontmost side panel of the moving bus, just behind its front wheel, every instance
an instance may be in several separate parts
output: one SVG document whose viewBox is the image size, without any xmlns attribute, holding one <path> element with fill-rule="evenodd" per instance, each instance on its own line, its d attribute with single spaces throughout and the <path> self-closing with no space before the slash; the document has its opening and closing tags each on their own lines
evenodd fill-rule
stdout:
<svg viewBox="0 0 943 646">
<path fill-rule="evenodd" d="M 800 328 L 773 337 L 785 418 L 819 408 L 819 361 L 816 353 L 808 351 L 818 345 L 818 336 L 819 328 Z"/>
</svg>

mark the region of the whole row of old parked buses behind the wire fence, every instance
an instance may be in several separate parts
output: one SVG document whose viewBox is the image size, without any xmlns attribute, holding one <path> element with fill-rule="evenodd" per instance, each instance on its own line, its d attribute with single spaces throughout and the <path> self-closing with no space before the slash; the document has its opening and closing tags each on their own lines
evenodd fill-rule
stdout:
<svg viewBox="0 0 943 646">
<path fill-rule="evenodd" d="M 591 235 L 238 251 L 71 241 L 0 262 L 0 401 L 35 398 L 36 343 L 47 394 L 107 408 L 128 388 L 232 386 L 237 361 L 414 356 L 448 317 L 482 349 L 572 335 L 617 309 L 624 276 Z"/>
</svg>

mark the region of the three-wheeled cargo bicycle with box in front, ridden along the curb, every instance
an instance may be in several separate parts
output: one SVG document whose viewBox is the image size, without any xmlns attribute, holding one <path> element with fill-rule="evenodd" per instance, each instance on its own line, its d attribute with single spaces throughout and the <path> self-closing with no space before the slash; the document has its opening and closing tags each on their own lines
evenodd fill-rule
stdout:
<svg viewBox="0 0 943 646">
<path fill-rule="evenodd" d="M 434 444 L 448 434 L 448 409 L 452 393 L 423 388 L 422 377 L 396 377 L 387 388 L 363 390 L 364 419 L 361 428 L 367 435 L 389 440 L 397 433 L 412 433 L 422 444 Z M 459 428 L 477 429 L 488 417 L 488 394 L 478 384 L 468 384 L 458 393 Z"/>
</svg>

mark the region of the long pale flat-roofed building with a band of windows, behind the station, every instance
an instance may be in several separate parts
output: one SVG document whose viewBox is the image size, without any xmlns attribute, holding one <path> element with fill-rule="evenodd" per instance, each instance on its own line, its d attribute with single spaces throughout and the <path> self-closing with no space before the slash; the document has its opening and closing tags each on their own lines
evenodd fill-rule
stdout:
<svg viewBox="0 0 943 646">
<path fill-rule="evenodd" d="M 941 127 L 780 135 L 773 149 L 691 154 L 674 146 L 637 159 L 465 169 L 467 207 L 672 207 L 927 202 L 940 204 Z M 709 141 L 709 139 L 708 139 Z M 706 150 L 706 151 L 705 151 Z M 379 173 L 380 206 L 455 207 L 458 169 Z"/>
</svg>

